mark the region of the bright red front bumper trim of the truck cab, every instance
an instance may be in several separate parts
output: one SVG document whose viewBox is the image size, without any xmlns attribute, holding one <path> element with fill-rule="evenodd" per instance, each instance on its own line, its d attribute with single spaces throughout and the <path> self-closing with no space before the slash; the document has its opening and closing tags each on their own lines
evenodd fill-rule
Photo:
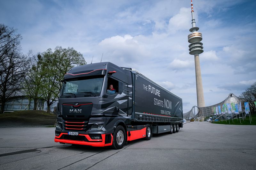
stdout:
<svg viewBox="0 0 256 170">
<path fill-rule="evenodd" d="M 106 134 L 101 134 L 102 139 L 91 139 L 89 135 L 79 134 L 79 136 L 84 136 L 89 142 L 86 141 L 76 141 L 76 140 L 68 140 L 68 139 L 60 139 L 62 135 L 68 135 L 68 133 L 61 133 L 59 136 L 55 136 L 54 142 L 60 142 L 65 144 L 82 144 L 82 145 L 89 145 L 89 146 L 111 146 L 113 143 L 113 140 L 111 140 L 111 143 L 105 144 L 105 137 Z M 113 139 L 113 135 L 111 135 L 111 138 Z"/>
</svg>

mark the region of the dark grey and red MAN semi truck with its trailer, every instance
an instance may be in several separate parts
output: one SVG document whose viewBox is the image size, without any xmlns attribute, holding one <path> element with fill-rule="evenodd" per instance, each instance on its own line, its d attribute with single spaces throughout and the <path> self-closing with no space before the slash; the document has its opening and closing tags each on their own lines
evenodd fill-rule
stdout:
<svg viewBox="0 0 256 170">
<path fill-rule="evenodd" d="M 55 142 L 114 149 L 183 126 L 180 97 L 110 62 L 77 66 L 64 75 L 56 117 Z"/>
</svg>

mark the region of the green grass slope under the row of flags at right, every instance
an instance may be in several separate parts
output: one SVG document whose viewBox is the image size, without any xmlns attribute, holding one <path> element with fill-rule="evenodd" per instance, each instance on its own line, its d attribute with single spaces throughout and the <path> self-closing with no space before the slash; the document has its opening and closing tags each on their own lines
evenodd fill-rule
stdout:
<svg viewBox="0 0 256 170">
<path fill-rule="evenodd" d="M 230 123 L 229 123 L 230 122 Z M 227 120 L 227 122 L 225 120 L 223 120 L 222 122 L 212 122 L 214 124 L 232 124 L 232 125 L 256 125 L 256 115 L 252 115 L 252 121 L 250 123 L 250 119 L 249 116 L 246 116 L 246 118 L 243 120 L 243 118 L 241 118 L 241 123 L 239 118 L 238 119 L 233 119 L 232 120 Z"/>
</svg>

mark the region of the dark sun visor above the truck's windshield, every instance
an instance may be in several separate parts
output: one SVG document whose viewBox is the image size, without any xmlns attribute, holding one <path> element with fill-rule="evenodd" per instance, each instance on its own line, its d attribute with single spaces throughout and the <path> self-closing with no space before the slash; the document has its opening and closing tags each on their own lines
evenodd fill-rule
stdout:
<svg viewBox="0 0 256 170">
<path fill-rule="evenodd" d="M 64 75 L 64 79 L 78 78 L 78 77 L 85 77 L 85 76 L 105 75 L 105 74 L 107 74 L 107 69 L 85 70 L 85 71 L 79 71 L 74 73 L 67 73 Z"/>
</svg>

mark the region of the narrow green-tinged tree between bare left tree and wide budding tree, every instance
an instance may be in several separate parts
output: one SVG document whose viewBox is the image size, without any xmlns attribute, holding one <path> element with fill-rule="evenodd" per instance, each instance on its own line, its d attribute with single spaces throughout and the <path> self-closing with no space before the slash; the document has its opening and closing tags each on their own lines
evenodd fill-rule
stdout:
<svg viewBox="0 0 256 170">
<path fill-rule="evenodd" d="M 43 58 L 40 54 L 31 58 L 30 68 L 25 77 L 24 92 L 29 100 L 34 100 L 34 108 L 36 110 L 37 100 L 43 94 L 44 68 Z"/>
</svg>

